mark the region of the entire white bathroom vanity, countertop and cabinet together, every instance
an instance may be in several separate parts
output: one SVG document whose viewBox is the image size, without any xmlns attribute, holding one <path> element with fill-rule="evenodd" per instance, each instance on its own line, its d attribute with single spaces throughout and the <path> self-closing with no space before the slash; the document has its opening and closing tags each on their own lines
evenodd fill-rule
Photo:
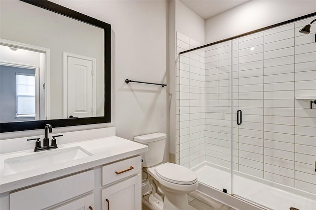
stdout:
<svg viewBox="0 0 316 210">
<path fill-rule="evenodd" d="M 87 155 L 62 163 L 38 161 L 62 158 L 61 151 L 74 148 Z M 140 154 L 146 151 L 145 145 L 109 136 L 38 153 L 0 154 L 0 210 L 108 210 L 107 200 L 110 210 L 141 210 Z M 23 167 L 12 171 L 9 163 Z"/>
</svg>

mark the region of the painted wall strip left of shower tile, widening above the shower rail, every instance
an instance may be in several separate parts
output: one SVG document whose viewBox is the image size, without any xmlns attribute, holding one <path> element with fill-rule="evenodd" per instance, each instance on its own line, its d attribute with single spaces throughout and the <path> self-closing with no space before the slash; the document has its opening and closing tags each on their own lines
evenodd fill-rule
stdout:
<svg viewBox="0 0 316 210">
<path fill-rule="evenodd" d="M 194 13 L 179 0 L 169 1 L 169 80 L 170 80 L 170 161 L 176 162 L 176 153 L 179 156 L 179 122 L 176 122 L 177 107 L 179 100 L 176 98 L 176 91 L 179 87 L 176 85 L 179 75 L 177 74 L 179 66 L 176 67 L 179 52 L 195 48 L 204 44 L 204 19 Z M 176 32 L 190 37 L 191 43 L 188 48 L 177 46 Z"/>
</svg>

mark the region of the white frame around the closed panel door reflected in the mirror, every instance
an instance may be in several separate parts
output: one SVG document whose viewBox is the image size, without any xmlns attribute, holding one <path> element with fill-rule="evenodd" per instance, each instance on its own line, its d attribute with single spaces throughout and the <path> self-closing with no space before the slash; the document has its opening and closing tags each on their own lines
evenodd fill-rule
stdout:
<svg viewBox="0 0 316 210">
<path fill-rule="evenodd" d="M 73 53 L 63 52 L 63 118 L 68 119 L 68 57 L 92 61 L 92 117 L 96 116 L 96 59 Z"/>
</svg>

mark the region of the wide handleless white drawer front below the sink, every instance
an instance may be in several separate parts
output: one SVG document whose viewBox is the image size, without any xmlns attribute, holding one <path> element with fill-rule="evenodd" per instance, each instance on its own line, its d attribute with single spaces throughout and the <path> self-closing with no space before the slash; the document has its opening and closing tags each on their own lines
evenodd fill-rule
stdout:
<svg viewBox="0 0 316 210">
<path fill-rule="evenodd" d="M 10 193 L 10 210 L 39 210 L 92 191 L 94 170 Z"/>
</svg>

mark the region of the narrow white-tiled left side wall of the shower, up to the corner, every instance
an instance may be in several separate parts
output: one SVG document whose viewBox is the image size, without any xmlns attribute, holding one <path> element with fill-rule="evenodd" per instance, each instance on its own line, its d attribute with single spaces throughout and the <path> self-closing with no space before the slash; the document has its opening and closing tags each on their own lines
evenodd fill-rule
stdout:
<svg viewBox="0 0 316 210">
<path fill-rule="evenodd" d="M 179 55 L 200 44 L 177 32 L 176 162 L 192 168 L 205 160 L 204 50 Z"/>
</svg>

